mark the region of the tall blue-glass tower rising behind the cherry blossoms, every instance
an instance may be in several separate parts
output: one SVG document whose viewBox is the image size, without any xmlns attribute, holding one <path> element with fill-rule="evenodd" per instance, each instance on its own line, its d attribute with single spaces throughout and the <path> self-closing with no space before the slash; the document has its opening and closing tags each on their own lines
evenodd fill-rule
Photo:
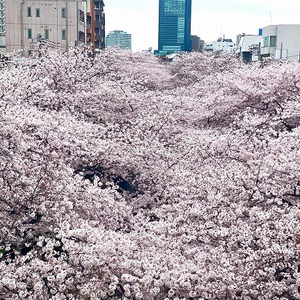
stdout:
<svg viewBox="0 0 300 300">
<path fill-rule="evenodd" d="M 159 0 L 158 52 L 191 51 L 192 0 Z"/>
</svg>

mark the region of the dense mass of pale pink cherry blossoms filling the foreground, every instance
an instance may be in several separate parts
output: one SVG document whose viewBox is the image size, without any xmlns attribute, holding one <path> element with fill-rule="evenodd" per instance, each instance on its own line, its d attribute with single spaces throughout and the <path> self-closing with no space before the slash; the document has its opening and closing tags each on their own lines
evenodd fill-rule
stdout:
<svg viewBox="0 0 300 300">
<path fill-rule="evenodd" d="M 299 63 L 1 70 L 1 299 L 300 298 Z"/>
</svg>

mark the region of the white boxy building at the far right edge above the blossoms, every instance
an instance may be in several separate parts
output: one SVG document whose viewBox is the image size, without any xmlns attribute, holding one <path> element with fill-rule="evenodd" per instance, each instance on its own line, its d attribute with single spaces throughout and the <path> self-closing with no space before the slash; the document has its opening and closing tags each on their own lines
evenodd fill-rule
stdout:
<svg viewBox="0 0 300 300">
<path fill-rule="evenodd" d="M 269 25 L 262 29 L 262 57 L 300 59 L 300 24 Z"/>
</svg>

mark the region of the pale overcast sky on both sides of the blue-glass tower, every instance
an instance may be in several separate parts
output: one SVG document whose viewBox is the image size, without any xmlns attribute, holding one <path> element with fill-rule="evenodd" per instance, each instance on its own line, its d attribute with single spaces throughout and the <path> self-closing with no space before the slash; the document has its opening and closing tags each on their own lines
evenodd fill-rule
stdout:
<svg viewBox="0 0 300 300">
<path fill-rule="evenodd" d="M 157 49 L 159 0 L 105 0 L 106 34 L 132 34 L 132 50 Z M 257 34 L 271 24 L 300 24 L 300 0 L 192 0 L 192 34 L 205 42 Z"/>
</svg>

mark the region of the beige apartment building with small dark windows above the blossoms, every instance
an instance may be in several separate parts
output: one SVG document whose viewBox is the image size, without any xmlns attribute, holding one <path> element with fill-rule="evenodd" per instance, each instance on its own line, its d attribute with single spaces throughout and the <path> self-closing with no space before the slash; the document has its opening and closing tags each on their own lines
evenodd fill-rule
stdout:
<svg viewBox="0 0 300 300">
<path fill-rule="evenodd" d="M 42 47 L 67 50 L 86 41 L 81 0 L 6 0 L 6 52 L 29 57 Z"/>
</svg>

